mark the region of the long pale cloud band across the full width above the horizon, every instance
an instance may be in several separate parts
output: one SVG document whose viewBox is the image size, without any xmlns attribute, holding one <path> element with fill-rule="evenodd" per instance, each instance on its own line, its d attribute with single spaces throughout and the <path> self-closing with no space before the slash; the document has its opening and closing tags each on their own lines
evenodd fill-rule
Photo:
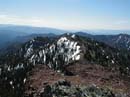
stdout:
<svg viewBox="0 0 130 97">
<path fill-rule="evenodd" d="M 100 18 L 54 18 L 54 17 L 24 17 L 0 14 L 0 24 L 29 25 L 37 27 L 53 27 L 61 29 L 130 29 L 128 20 L 106 20 Z"/>
</svg>

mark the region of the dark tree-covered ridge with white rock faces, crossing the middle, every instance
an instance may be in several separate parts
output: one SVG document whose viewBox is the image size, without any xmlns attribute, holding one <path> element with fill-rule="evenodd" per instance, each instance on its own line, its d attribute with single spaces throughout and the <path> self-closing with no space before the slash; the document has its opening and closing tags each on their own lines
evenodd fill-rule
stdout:
<svg viewBox="0 0 130 97">
<path fill-rule="evenodd" d="M 129 53 L 121 52 L 91 38 L 69 33 L 51 38 L 36 37 L 24 43 L 18 51 L 0 58 L 0 84 L 5 85 L 4 87 L 10 90 L 8 95 L 13 95 L 13 97 L 17 93 L 23 95 L 24 85 L 28 80 L 27 74 L 38 64 L 67 76 L 75 75 L 71 71 L 73 69 L 67 67 L 75 67 L 76 63 L 80 64 L 80 68 L 84 66 L 86 68 L 88 64 L 93 64 L 93 66 L 98 64 L 110 71 L 119 72 L 118 75 L 122 77 L 128 77 L 130 74 Z M 81 69 L 80 73 L 85 73 L 83 71 Z M 6 88 L 1 87 L 1 90 L 7 91 Z M 14 94 L 11 93 L 12 89 L 15 91 Z"/>
</svg>

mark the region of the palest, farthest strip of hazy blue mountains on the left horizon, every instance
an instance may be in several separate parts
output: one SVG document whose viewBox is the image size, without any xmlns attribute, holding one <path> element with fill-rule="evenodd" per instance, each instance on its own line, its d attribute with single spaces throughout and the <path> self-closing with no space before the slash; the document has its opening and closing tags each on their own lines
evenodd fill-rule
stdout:
<svg viewBox="0 0 130 97">
<path fill-rule="evenodd" d="M 67 31 L 49 28 L 49 27 L 33 27 L 33 26 L 20 26 L 20 25 L 2 25 L 0 24 L 0 29 L 6 29 L 9 31 L 22 32 L 26 34 L 42 34 L 42 33 L 54 33 L 54 34 L 63 34 Z"/>
</svg>

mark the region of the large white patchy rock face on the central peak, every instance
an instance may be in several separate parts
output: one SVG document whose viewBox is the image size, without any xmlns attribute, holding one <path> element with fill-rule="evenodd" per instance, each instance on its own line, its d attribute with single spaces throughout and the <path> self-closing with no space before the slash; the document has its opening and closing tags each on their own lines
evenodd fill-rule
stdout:
<svg viewBox="0 0 130 97">
<path fill-rule="evenodd" d="M 45 64 L 50 68 L 58 68 L 61 65 L 68 65 L 72 61 L 80 60 L 80 48 L 76 41 L 63 36 L 51 45 L 48 43 L 36 53 L 34 53 L 32 46 L 29 46 L 26 56 L 34 65 Z"/>
</svg>

